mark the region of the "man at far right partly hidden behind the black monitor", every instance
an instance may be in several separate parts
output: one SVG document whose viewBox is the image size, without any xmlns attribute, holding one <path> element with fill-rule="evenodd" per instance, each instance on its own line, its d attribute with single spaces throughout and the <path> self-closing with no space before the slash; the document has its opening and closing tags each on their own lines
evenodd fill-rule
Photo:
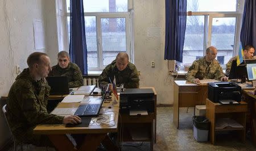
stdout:
<svg viewBox="0 0 256 151">
<path fill-rule="evenodd" d="M 243 58 L 245 58 L 245 59 L 253 58 L 254 51 L 255 51 L 255 48 L 252 45 L 246 45 L 245 49 L 243 49 Z M 233 60 L 237 60 L 237 57 L 238 56 L 234 56 L 234 57 L 230 58 L 229 62 L 226 64 L 226 75 L 228 77 L 230 74 L 232 62 L 233 62 Z"/>
</svg>

